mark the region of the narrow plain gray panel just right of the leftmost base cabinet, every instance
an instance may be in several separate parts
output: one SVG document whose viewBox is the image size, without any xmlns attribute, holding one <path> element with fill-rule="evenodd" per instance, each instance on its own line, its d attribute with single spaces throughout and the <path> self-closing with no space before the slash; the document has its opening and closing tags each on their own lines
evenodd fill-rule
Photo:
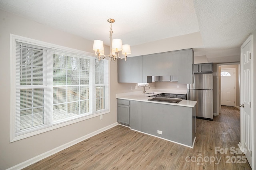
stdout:
<svg viewBox="0 0 256 170">
<path fill-rule="evenodd" d="M 131 129 L 142 131 L 142 102 L 131 100 Z"/>
</svg>

